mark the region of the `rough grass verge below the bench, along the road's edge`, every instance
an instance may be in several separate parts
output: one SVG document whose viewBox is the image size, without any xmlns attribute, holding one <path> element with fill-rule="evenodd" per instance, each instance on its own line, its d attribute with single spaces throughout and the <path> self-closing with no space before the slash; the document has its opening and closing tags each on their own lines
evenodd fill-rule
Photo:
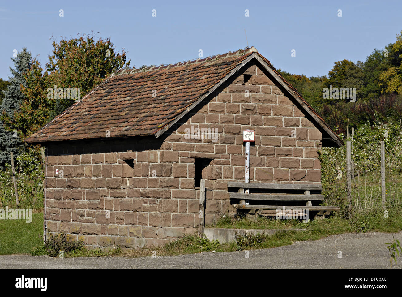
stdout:
<svg viewBox="0 0 402 297">
<path fill-rule="evenodd" d="M 239 236 L 233 243 L 217 244 L 207 239 L 199 239 L 196 235 L 186 235 L 177 241 L 154 248 L 142 248 L 137 250 L 125 250 L 117 255 L 126 257 L 144 257 L 179 254 L 195 254 L 201 252 L 232 252 L 238 250 L 263 249 L 291 245 L 295 241 L 318 240 L 335 234 L 349 232 L 398 232 L 402 230 L 401 211 L 398 209 L 389 210 L 389 217 L 384 218 L 382 211 L 370 212 L 355 215 L 346 220 L 339 216 L 333 216 L 321 221 L 310 221 L 302 223 L 298 220 L 275 220 L 270 218 L 259 218 L 257 221 L 247 219 L 234 219 L 225 217 L 217 222 L 214 227 L 241 228 L 241 229 L 289 229 L 304 228 L 306 231 L 281 231 L 273 235 Z"/>
</svg>

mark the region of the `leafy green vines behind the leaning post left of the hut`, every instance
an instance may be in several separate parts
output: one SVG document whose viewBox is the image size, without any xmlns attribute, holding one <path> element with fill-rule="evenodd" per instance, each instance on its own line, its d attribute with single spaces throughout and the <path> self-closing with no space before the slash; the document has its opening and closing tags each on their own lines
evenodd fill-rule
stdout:
<svg viewBox="0 0 402 297">
<path fill-rule="evenodd" d="M 44 166 L 37 147 L 27 149 L 14 159 L 15 178 L 19 206 L 41 209 L 43 207 Z M 16 206 L 14 182 L 12 179 L 11 159 L 5 169 L 0 171 L 0 207 Z"/>
</svg>

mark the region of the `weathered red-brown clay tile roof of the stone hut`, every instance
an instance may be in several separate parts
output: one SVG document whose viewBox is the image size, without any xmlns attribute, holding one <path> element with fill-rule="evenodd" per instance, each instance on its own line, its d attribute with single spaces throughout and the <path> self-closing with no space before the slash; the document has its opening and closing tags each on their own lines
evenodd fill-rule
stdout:
<svg viewBox="0 0 402 297">
<path fill-rule="evenodd" d="M 194 107 L 200 97 L 208 95 L 233 74 L 234 69 L 253 57 L 263 59 L 274 74 L 291 87 L 254 47 L 187 62 L 120 69 L 25 141 L 105 138 L 107 130 L 110 137 L 152 134 L 158 137 Z M 314 109 L 297 92 L 295 94 L 306 105 L 305 109 L 311 109 L 318 117 Z M 335 137 L 338 136 L 332 136 Z"/>
</svg>

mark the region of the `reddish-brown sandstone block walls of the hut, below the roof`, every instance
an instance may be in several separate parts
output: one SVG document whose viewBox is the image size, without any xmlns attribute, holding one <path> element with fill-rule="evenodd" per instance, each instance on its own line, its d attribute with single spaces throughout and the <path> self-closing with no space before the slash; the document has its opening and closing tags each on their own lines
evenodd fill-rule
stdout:
<svg viewBox="0 0 402 297">
<path fill-rule="evenodd" d="M 213 128 L 217 137 L 189 137 L 195 128 Z M 320 131 L 258 66 L 247 65 L 160 138 L 49 144 L 48 231 L 92 247 L 152 246 L 194 233 L 196 158 L 211 160 L 201 176 L 205 221 L 213 224 L 236 211 L 227 182 L 244 181 L 246 129 L 256 132 L 250 181 L 320 183 Z"/>
</svg>

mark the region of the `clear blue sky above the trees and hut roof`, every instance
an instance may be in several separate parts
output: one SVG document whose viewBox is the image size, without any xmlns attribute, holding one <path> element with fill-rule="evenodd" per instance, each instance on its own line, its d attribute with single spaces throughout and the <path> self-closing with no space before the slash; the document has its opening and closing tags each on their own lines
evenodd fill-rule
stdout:
<svg viewBox="0 0 402 297">
<path fill-rule="evenodd" d="M 196 59 L 199 50 L 207 57 L 244 48 L 246 29 L 249 46 L 276 68 L 327 75 L 338 60 L 365 60 L 374 48 L 395 42 L 401 8 L 401 1 L 392 0 L 2 1 L 0 78 L 11 75 L 13 50 L 27 47 L 44 67 L 52 35 L 60 40 L 91 30 L 111 36 L 131 66 L 139 67 Z"/>
</svg>

